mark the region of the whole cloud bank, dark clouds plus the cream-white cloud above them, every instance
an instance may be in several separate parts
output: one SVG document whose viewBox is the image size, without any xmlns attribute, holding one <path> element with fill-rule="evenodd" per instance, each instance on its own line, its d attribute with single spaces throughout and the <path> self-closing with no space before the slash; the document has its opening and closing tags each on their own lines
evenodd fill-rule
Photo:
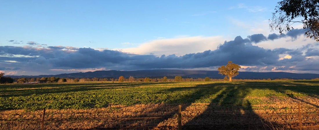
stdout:
<svg viewBox="0 0 319 130">
<path fill-rule="evenodd" d="M 216 70 L 227 61 L 233 61 L 243 66 L 241 71 L 319 73 L 319 44 L 313 40 L 295 48 L 265 46 L 265 43 L 281 40 L 299 42 L 301 39 L 305 42 L 302 33 L 303 30 L 293 30 L 285 35 L 270 34 L 268 37 L 253 34 L 224 42 L 220 37 L 160 39 L 125 50 L 140 54 L 64 46 L 0 46 L 0 71 L 14 75 L 39 75 L 94 70 Z M 183 51 L 179 51 L 180 48 Z M 191 49 L 205 48 L 204 51 L 186 53 Z M 165 49 L 167 51 L 163 51 Z M 174 54 L 174 51 L 182 55 Z"/>
</svg>

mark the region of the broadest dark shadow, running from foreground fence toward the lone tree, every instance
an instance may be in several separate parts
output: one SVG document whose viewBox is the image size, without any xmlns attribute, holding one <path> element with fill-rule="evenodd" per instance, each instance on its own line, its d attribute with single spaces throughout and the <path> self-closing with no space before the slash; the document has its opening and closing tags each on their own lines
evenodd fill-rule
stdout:
<svg viewBox="0 0 319 130">
<path fill-rule="evenodd" d="M 196 117 L 185 117 L 191 120 L 183 125 L 183 129 L 255 130 L 271 129 L 270 124 L 277 125 L 263 120 L 254 113 L 250 102 L 244 100 L 248 93 L 249 89 L 242 88 L 238 84 L 227 84 L 216 98 L 211 100 L 203 113 Z"/>
</svg>

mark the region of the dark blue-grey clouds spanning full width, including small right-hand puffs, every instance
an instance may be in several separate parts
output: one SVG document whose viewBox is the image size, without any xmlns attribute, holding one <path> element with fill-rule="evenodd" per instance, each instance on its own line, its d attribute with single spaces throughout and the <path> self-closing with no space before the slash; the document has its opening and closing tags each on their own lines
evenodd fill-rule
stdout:
<svg viewBox="0 0 319 130">
<path fill-rule="evenodd" d="M 289 37 L 297 37 L 301 31 L 289 34 Z M 0 64 L 5 61 L 17 61 L 10 63 L 14 66 L 3 66 L 11 70 L 20 66 L 46 66 L 47 69 L 87 69 L 108 68 L 114 70 L 137 70 L 137 69 L 161 69 L 161 68 L 202 68 L 225 65 L 228 61 L 235 64 L 253 66 L 247 70 L 271 70 L 274 66 L 277 70 L 289 70 L 291 66 L 299 63 L 313 63 L 306 56 L 318 55 L 316 44 L 306 45 L 300 49 L 277 48 L 264 49 L 253 45 L 265 40 L 273 40 L 288 35 L 271 34 L 268 39 L 263 34 L 250 35 L 243 39 L 240 36 L 231 41 L 220 44 L 216 50 L 207 50 L 198 53 L 190 53 L 183 56 L 162 55 L 160 57 L 150 55 L 137 55 L 121 51 L 103 50 L 92 48 L 75 48 L 64 46 L 48 47 L 16 47 L 0 46 Z M 37 44 L 35 42 L 29 42 Z M 305 55 L 303 55 L 303 52 Z M 19 56 L 16 56 L 19 55 Z M 22 56 L 21 56 L 22 55 Z M 290 55 L 292 58 L 279 59 L 279 55 Z M 26 65 L 27 64 L 27 65 Z M 5 64 L 2 64 L 5 65 Z M 307 65 L 307 64 L 306 64 Z M 256 67 L 254 67 L 256 66 Z M 265 67 L 266 66 L 266 67 Z M 268 67 L 267 67 L 268 66 Z M 303 69 L 302 66 L 296 68 Z M 2 68 L 3 69 L 3 68 Z"/>
</svg>

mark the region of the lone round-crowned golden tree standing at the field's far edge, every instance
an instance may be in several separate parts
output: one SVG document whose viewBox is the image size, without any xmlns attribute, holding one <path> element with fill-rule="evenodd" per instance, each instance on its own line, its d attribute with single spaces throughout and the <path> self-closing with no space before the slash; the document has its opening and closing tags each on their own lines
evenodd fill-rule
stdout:
<svg viewBox="0 0 319 130">
<path fill-rule="evenodd" d="M 229 82 L 232 81 L 232 78 L 239 74 L 239 65 L 232 63 L 232 61 L 228 61 L 226 66 L 221 66 L 218 68 L 219 74 L 226 75 L 229 77 Z"/>
</svg>

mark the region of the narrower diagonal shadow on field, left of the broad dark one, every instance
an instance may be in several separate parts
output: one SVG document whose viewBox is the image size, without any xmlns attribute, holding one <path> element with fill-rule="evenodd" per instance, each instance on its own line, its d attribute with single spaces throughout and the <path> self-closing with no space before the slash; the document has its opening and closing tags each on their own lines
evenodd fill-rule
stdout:
<svg viewBox="0 0 319 130">
<path fill-rule="evenodd" d="M 225 85 L 225 83 L 222 83 L 222 85 Z M 190 106 L 190 103 L 196 102 L 197 100 L 201 100 L 204 98 L 209 97 L 210 95 L 216 94 L 220 92 L 223 89 L 223 86 L 217 86 L 215 87 L 215 84 L 205 84 L 205 85 L 197 85 L 197 86 L 189 86 L 189 87 L 174 87 L 170 88 L 167 91 L 168 92 L 181 92 L 183 93 L 179 97 L 174 97 L 174 99 L 169 99 L 165 101 L 163 105 L 155 106 L 152 108 L 152 111 L 141 111 L 145 114 L 140 114 L 137 116 L 133 116 L 131 118 L 143 118 L 143 117 L 153 117 L 153 116 L 160 116 L 161 118 L 158 119 L 140 119 L 140 120 L 122 120 L 119 123 L 114 125 L 115 129 L 149 129 L 154 128 L 156 126 L 162 126 L 160 123 L 163 123 L 164 121 L 167 121 L 174 116 L 176 116 L 176 113 L 178 111 L 178 105 L 182 105 L 182 111 L 184 111 L 188 106 Z M 159 92 L 160 93 L 160 92 Z M 148 113 L 161 113 L 164 112 L 164 114 L 161 115 L 150 115 Z M 136 124 L 137 122 L 148 122 L 147 124 Z M 175 120 L 174 120 L 175 121 Z M 175 121 L 176 122 L 176 121 Z M 136 125 L 129 125 L 126 124 L 136 124 Z M 149 124 L 149 125 L 148 125 Z M 103 124 L 93 128 L 93 129 L 108 129 L 103 128 Z M 159 127 L 159 129 L 174 129 L 176 128 L 176 124 L 173 126 L 166 126 L 166 127 Z"/>
</svg>

